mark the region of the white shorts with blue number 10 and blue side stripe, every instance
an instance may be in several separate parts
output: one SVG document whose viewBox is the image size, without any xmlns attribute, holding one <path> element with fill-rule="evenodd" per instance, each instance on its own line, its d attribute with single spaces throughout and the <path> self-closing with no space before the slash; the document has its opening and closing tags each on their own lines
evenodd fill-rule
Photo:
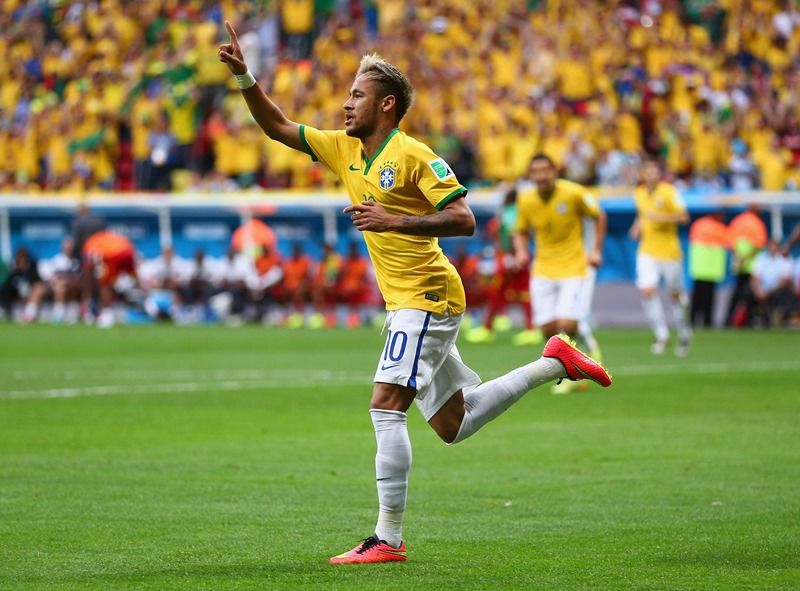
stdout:
<svg viewBox="0 0 800 591">
<path fill-rule="evenodd" d="M 426 421 L 453 394 L 481 383 L 456 348 L 461 318 L 412 309 L 386 314 L 389 334 L 374 381 L 416 389 L 415 401 Z"/>
</svg>

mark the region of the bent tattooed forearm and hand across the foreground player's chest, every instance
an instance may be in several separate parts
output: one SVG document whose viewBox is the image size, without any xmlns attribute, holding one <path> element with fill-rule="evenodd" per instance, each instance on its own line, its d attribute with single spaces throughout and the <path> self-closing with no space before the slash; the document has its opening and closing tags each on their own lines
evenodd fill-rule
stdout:
<svg viewBox="0 0 800 591">
<path fill-rule="evenodd" d="M 430 215 L 392 215 L 375 201 L 350 205 L 353 225 L 362 232 L 400 232 L 415 236 L 472 236 L 475 216 L 464 199 L 456 199 Z"/>
</svg>

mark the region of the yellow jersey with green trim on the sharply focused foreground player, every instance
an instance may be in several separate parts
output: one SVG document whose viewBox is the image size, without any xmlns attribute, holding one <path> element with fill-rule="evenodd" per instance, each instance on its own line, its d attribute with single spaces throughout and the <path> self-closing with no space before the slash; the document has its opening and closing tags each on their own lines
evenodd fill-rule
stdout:
<svg viewBox="0 0 800 591">
<path fill-rule="evenodd" d="M 322 161 L 341 179 L 354 204 L 371 200 L 390 214 L 423 216 L 467 192 L 442 158 L 396 128 L 369 159 L 361 140 L 344 131 L 301 125 L 300 139 L 312 159 Z M 400 232 L 363 234 L 387 310 L 464 312 L 464 287 L 437 238 Z"/>
</svg>

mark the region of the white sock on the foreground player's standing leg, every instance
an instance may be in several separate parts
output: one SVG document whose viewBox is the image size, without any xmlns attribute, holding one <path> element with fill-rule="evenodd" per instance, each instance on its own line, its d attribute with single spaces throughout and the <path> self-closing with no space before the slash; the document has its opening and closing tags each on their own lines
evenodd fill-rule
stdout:
<svg viewBox="0 0 800 591">
<path fill-rule="evenodd" d="M 378 524 L 375 535 L 391 546 L 403 542 L 403 512 L 406 509 L 408 473 L 411 471 L 411 441 L 406 413 L 371 409 L 378 451 L 375 479 L 378 486 Z"/>
</svg>

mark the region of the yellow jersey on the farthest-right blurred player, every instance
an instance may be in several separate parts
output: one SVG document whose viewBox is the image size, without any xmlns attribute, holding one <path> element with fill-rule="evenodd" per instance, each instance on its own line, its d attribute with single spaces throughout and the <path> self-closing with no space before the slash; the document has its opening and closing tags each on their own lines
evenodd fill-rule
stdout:
<svg viewBox="0 0 800 591">
<path fill-rule="evenodd" d="M 641 238 L 639 252 L 654 259 L 676 261 L 683 258 L 678 239 L 678 224 L 675 222 L 654 222 L 647 218 L 649 213 L 685 213 L 686 205 L 678 189 L 669 183 L 660 182 L 652 193 L 644 186 L 633 192 L 636 212 L 639 216 Z"/>
</svg>

